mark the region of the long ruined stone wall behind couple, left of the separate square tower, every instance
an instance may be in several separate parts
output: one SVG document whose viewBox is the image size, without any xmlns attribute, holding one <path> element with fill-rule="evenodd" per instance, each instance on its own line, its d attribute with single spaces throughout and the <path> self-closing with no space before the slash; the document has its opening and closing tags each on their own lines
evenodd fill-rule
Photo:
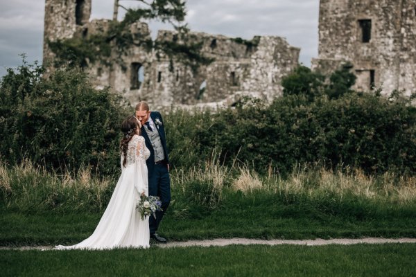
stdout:
<svg viewBox="0 0 416 277">
<path fill-rule="evenodd" d="M 76 10 L 78 12 L 76 12 Z M 106 19 L 89 21 L 91 0 L 46 0 L 44 61 L 55 55 L 47 41 L 89 37 L 107 30 Z M 137 22 L 127 30 L 137 42 L 150 39 L 148 25 Z M 158 41 L 171 41 L 175 32 L 160 30 Z M 134 105 L 147 100 L 153 107 L 220 102 L 250 94 L 270 100 L 281 95 L 281 78 L 297 66 L 300 48 L 281 37 L 254 37 L 247 42 L 223 35 L 189 33 L 187 39 L 202 43 L 201 53 L 214 62 L 190 66 L 144 45 L 119 49 L 110 42 L 111 55 L 89 62 L 86 71 L 98 88 L 111 87 Z M 227 102 L 232 105 L 232 102 Z"/>
</svg>

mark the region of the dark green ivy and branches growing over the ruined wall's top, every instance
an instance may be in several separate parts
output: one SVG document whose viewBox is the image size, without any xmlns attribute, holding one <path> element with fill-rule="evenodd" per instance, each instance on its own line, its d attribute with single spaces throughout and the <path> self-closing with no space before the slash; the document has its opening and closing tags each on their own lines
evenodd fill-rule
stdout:
<svg viewBox="0 0 416 277">
<path fill-rule="evenodd" d="M 141 1 L 143 2 L 143 1 Z M 209 64 L 214 60 L 200 53 L 202 43 L 192 42 L 187 36 L 189 29 L 180 24 L 186 15 L 185 3 L 181 0 L 154 0 L 146 3 L 147 8 L 128 9 L 122 21 L 111 21 L 107 32 L 103 35 L 89 37 L 73 37 L 56 42 L 48 42 L 56 55 L 54 66 L 61 64 L 75 64 L 87 67 L 89 63 L 102 62 L 110 65 L 117 62 L 123 67 L 123 55 L 128 55 L 131 46 L 142 46 L 146 51 L 156 50 L 156 57 L 168 56 L 190 66 L 195 72 L 198 66 Z M 159 19 L 168 21 L 177 31 L 171 41 L 160 40 L 153 42 L 149 36 L 133 37 L 130 26 L 137 21 Z M 177 23 L 175 23 L 177 22 Z M 180 37 L 180 39 L 177 39 Z M 112 48 L 117 51 L 112 52 Z M 112 53 L 116 54 L 112 56 Z"/>
</svg>

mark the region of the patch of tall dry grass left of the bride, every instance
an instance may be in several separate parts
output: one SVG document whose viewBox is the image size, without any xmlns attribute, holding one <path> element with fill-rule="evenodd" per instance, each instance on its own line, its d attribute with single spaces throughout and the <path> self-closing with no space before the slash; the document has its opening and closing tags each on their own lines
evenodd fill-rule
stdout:
<svg viewBox="0 0 416 277">
<path fill-rule="evenodd" d="M 12 167 L 0 163 L 1 204 L 18 211 L 103 211 L 114 186 L 112 179 L 93 176 L 89 168 L 80 168 L 73 177 L 30 161 Z"/>
</svg>

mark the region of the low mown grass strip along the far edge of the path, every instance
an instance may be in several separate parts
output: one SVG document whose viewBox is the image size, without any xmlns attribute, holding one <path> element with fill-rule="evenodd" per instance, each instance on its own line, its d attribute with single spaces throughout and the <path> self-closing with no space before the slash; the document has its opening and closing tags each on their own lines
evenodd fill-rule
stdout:
<svg viewBox="0 0 416 277">
<path fill-rule="evenodd" d="M 0 217 L 0 245 L 74 244 L 94 231 L 101 213 L 22 214 L 3 213 Z M 247 213 L 244 210 L 217 211 L 205 217 L 178 219 L 166 215 L 159 234 L 168 240 L 207 238 L 416 238 L 416 217 L 313 217 L 274 213 Z"/>
</svg>

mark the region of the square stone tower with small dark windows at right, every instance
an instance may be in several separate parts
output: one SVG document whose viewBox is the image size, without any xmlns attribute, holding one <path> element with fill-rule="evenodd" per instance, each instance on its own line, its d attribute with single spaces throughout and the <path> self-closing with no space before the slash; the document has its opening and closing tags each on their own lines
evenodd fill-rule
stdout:
<svg viewBox="0 0 416 277">
<path fill-rule="evenodd" d="M 312 68 L 328 73 L 347 61 L 354 65 L 355 89 L 415 92 L 416 1 L 321 0 Z"/>
</svg>

